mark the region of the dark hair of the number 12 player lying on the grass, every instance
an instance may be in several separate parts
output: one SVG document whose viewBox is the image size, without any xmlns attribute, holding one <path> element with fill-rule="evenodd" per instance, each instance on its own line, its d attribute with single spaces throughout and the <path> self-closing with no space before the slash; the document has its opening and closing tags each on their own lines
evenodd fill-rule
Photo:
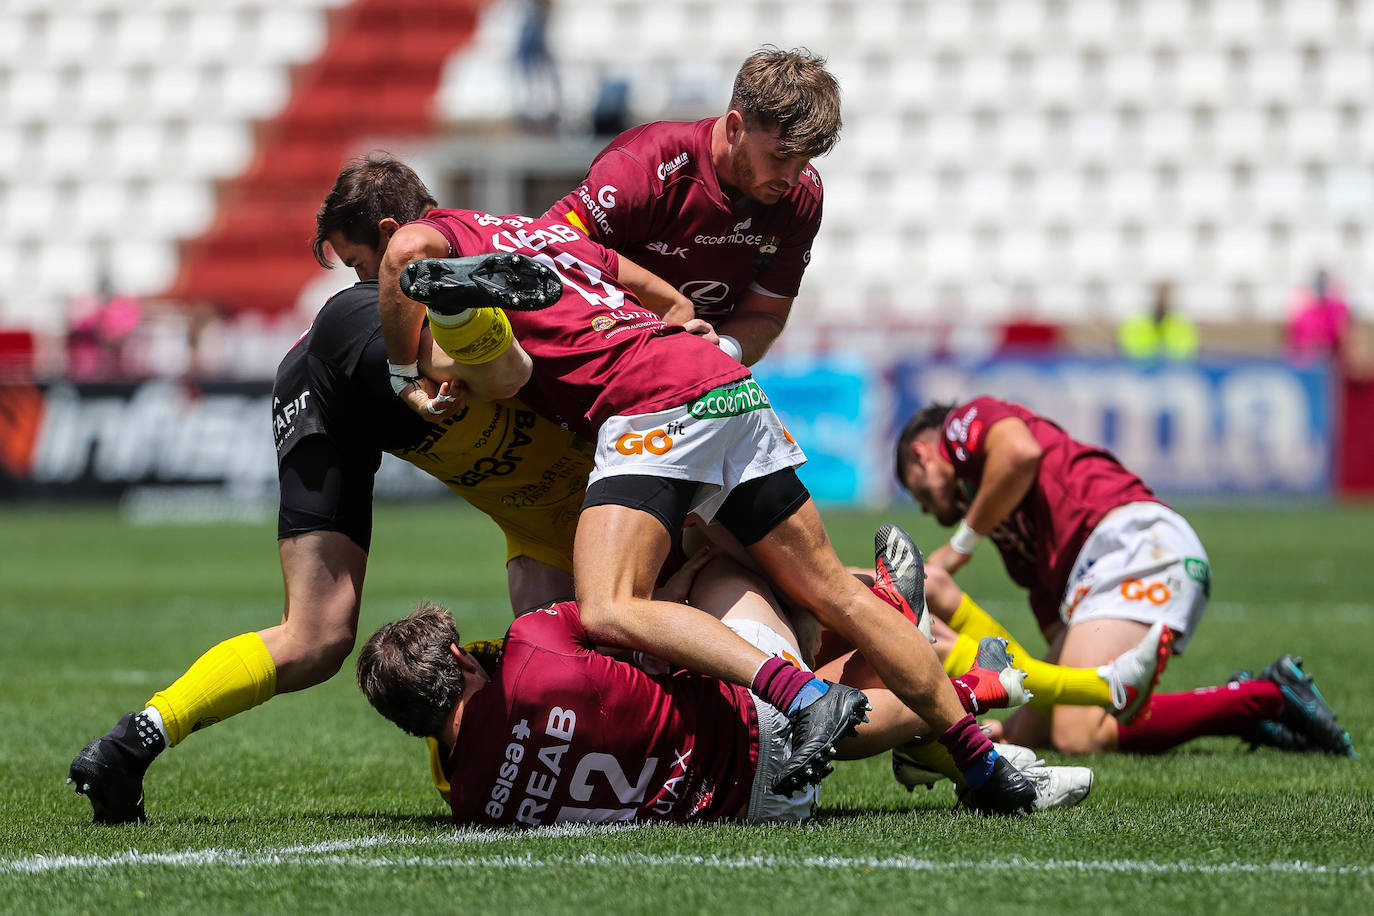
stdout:
<svg viewBox="0 0 1374 916">
<path fill-rule="evenodd" d="M 357 655 L 357 685 L 378 713 L 416 737 L 434 737 L 463 696 L 463 669 L 449 650 L 458 626 L 441 604 L 378 629 Z"/>
</svg>

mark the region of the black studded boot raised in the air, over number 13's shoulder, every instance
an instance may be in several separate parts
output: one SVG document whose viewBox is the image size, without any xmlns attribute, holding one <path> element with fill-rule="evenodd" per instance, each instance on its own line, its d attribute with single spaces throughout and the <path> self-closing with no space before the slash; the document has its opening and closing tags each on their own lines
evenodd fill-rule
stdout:
<svg viewBox="0 0 1374 916">
<path fill-rule="evenodd" d="M 401 272 L 401 291 L 436 314 L 488 308 L 537 312 L 562 298 L 563 283 L 523 254 L 477 254 L 412 261 Z"/>
</svg>

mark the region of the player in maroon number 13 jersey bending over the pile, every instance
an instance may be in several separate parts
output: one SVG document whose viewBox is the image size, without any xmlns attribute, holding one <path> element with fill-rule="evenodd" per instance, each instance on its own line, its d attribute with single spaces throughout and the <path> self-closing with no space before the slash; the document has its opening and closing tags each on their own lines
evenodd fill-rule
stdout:
<svg viewBox="0 0 1374 916">
<path fill-rule="evenodd" d="M 558 273 L 551 308 L 473 328 L 455 258 L 525 254 Z M 459 361 L 474 342 L 514 336 L 532 357 L 521 397 L 595 439 L 573 571 L 583 623 L 598 643 L 750 687 L 786 710 L 796 739 L 775 788 L 819 779 L 838 735 L 861 718 L 857 691 L 820 689 L 719 619 L 653 600 L 669 544 L 695 512 L 720 520 L 769 581 L 840 630 L 938 732 L 989 806 L 1024 808 L 1033 788 L 965 713 L 929 643 L 845 571 L 796 467 L 805 459 L 749 371 L 705 339 L 669 327 L 620 283 L 618 257 L 556 220 L 431 210 L 397 229 L 381 266 L 387 358 L 415 361 L 429 309 L 436 342 Z M 482 323 L 485 325 L 485 323 Z M 423 396 L 407 394 L 426 408 Z M 989 788 L 991 787 L 991 788 Z M 1000 799 L 996 801 L 996 799 Z"/>
</svg>

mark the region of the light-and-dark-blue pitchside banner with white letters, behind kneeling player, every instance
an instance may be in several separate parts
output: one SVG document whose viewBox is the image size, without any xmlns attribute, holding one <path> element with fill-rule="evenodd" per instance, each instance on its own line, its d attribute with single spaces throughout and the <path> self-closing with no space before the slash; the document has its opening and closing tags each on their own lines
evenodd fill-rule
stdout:
<svg viewBox="0 0 1374 916">
<path fill-rule="evenodd" d="M 1105 445 L 1162 494 L 1326 494 L 1333 379 L 1326 368 L 1209 360 L 1138 368 L 1118 360 L 982 364 L 790 363 L 758 379 L 807 450 L 818 497 L 881 505 L 894 494 L 892 446 L 930 401 L 1017 401 Z"/>
</svg>

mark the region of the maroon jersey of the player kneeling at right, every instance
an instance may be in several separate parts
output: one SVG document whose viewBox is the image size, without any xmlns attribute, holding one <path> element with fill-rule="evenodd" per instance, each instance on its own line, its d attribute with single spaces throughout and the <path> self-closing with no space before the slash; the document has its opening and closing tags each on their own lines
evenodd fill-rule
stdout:
<svg viewBox="0 0 1374 916">
<path fill-rule="evenodd" d="M 962 508 L 982 481 L 988 430 L 1006 417 L 1030 427 L 1043 456 L 1030 490 L 989 537 L 1011 580 L 1030 591 L 1030 610 L 1044 630 L 1059 621 L 1073 562 L 1102 516 L 1127 503 L 1161 500 L 1106 449 L 1079 442 L 1020 404 L 980 397 L 949 411 L 940 437 L 962 488 Z"/>
</svg>

